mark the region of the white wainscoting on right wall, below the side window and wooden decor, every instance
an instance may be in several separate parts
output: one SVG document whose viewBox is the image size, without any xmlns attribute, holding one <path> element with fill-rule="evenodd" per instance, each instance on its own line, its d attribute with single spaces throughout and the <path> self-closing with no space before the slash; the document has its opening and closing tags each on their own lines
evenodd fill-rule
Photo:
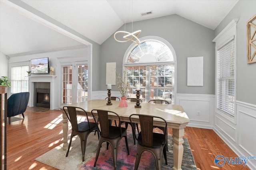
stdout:
<svg viewBox="0 0 256 170">
<path fill-rule="evenodd" d="M 256 156 L 256 105 L 236 101 L 235 122 L 215 113 L 213 130 L 238 156 Z M 256 160 L 247 166 L 256 169 Z"/>
</svg>

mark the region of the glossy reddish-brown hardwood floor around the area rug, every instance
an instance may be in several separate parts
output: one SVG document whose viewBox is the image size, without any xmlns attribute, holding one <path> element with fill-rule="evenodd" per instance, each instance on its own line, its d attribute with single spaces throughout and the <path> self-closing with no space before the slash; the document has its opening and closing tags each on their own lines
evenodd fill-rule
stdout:
<svg viewBox="0 0 256 170">
<path fill-rule="evenodd" d="M 62 144 L 61 111 L 26 111 L 24 115 L 25 119 L 7 125 L 7 169 L 56 170 L 34 159 Z M 172 134 L 172 130 L 168 129 L 168 133 Z M 186 127 L 185 137 L 188 138 L 198 170 L 249 169 L 227 163 L 224 166 L 216 166 L 214 158 L 217 155 L 233 158 L 242 155 L 236 155 L 213 130 Z"/>
</svg>

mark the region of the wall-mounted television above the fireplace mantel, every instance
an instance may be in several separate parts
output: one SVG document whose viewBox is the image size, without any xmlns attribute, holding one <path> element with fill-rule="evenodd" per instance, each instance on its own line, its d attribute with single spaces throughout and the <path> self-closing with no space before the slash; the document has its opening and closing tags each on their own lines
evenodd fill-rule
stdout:
<svg viewBox="0 0 256 170">
<path fill-rule="evenodd" d="M 40 59 L 31 59 L 31 74 L 48 74 L 49 59 L 48 57 Z"/>
</svg>

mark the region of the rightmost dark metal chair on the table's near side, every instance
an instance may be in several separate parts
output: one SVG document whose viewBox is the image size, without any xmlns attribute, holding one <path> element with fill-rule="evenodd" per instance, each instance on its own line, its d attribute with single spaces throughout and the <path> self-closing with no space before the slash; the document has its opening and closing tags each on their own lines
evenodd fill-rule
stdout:
<svg viewBox="0 0 256 170">
<path fill-rule="evenodd" d="M 141 114 L 132 114 L 130 115 L 130 122 L 135 117 L 139 117 L 140 121 L 140 133 L 137 140 L 137 153 L 134 170 L 138 169 L 140 163 L 140 157 L 142 152 L 149 151 L 153 154 L 156 161 L 156 169 L 161 170 L 162 166 L 162 153 L 164 152 L 165 164 L 167 165 L 167 156 L 166 156 L 166 132 L 164 134 L 154 133 L 154 119 L 162 119 L 165 123 L 165 129 L 167 129 L 167 122 L 162 117 L 151 116 L 151 115 L 141 115 Z M 132 131 L 135 131 L 135 127 L 132 126 Z"/>
</svg>

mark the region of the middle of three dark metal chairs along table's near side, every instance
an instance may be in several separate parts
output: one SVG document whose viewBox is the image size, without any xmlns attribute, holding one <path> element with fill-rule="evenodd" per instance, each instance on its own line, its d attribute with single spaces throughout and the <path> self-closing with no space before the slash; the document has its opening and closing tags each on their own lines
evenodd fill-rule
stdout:
<svg viewBox="0 0 256 170">
<path fill-rule="evenodd" d="M 128 148 L 128 141 L 127 141 L 127 133 L 126 133 L 126 128 L 121 127 L 120 123 L 118 123 L 118 126 L 112 126 L 109 124 L 109 115 L 111 116 L 116 116 L 118 117 L 118 122 L 120 122 L 120 117 L 117 113 L 113 111 L 108 111 L 108 110 L 100 110 L 100 109 L 93 109 L 91 111 L 92 116 L 95 119 L 95 115 L 97 114 L 97 117 L 100 122 L 100 141 L 98 144 L 98 149 L 96 153 L 96 158 L 94 162 L 94 167 L 96 166 L 99 154 L 100 154 L 100 148 L 103 142 L 107 142 L 107 149 L 108 149 L 108 144 L 112 147 L 112 156 L 113 156 L 113 161 L 114 161 L 114 168 L 116 170 L 116 160 L 117 160 L 117 155 L 118 155 L 118 145 L 120 143 L 120 140 L 122 137 L 125 138 L 125 143 L 126 143 L 126 149 L 128 152 L 128 155 L 130 154 L 129 148 Z"/>
</svg>

